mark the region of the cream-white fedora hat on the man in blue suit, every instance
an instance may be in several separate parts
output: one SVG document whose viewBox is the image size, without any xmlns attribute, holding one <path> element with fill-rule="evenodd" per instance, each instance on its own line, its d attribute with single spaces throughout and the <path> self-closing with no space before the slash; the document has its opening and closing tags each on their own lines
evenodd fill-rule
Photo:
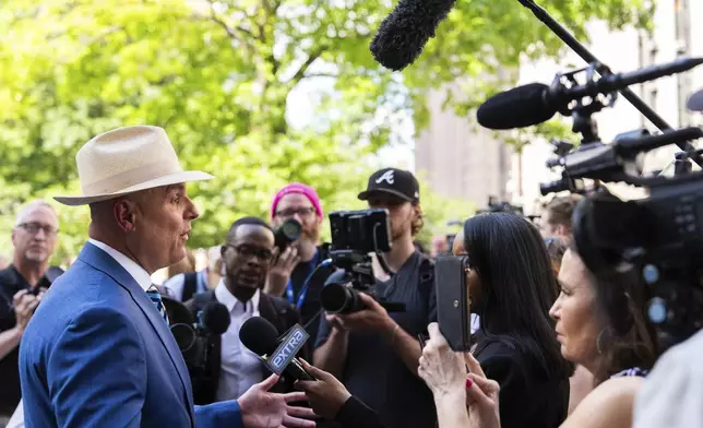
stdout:
<svg viewBox="0 0 703 428">
<path fill-rule="evenodd" d="M 64 205 L 85 205 L 140 190 L 213 178 L 206 173 L 184 171 L 166 131 L 152 126 L 102 133 L 79 150 L 75 164 L 83 194 L 53 198 Z"/>
</svg>

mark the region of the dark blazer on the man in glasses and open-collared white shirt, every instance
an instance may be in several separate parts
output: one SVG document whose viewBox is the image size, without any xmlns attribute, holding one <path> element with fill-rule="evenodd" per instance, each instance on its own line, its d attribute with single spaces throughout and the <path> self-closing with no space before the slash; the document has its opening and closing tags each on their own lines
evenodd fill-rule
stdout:
<svg viewBox="0 0 703 428">
<path fill-rule="evenodd" d="M 199 293 L 193 296 L 192 299 L 186 302 L 186 307 L 191 310 L 193 318 L 196 319 L 198 312 L 203 310 L 205 306 L 211 301 L 217 301 L 215 297 L 215 290 L 207 290 L 205 293 Z M 300 323 L 300 316 L 296 308 L 288 302 L 287 299 L 282 297 L 270 296 L 265 293 L 260 294 L 259 298 L 259 314 L 269 322 L 271 322 L 276 330 L 278 335 L 282 335 L 288 329 L 295 324 Z M 210 376 L 206 380 L 194 382 L 193 384 L 193 394 L 195 399 L 195 404 L 211 404 L 215 402 L 215 394 L 217 393 L 217 385 L 219 383 L 219 372 L 222 367 L 222 336 L 212 335 L 210 337 Z M 305 350 L 305 347 L 303 347 Z M 298 354 L 299 357 L 306 358 L 307 355 L 305 352 Z M 262 380 L 271 376 L 271 371 L 264 366 L 261 365 L 261 376 Z M 285 378 L 285 377 L 284 377 Z M 290 392 L 294 391 L 293 383 L 295 380 L 282 379 L 276 385 L 272 388 L 273 392 Z"/>
</svg>

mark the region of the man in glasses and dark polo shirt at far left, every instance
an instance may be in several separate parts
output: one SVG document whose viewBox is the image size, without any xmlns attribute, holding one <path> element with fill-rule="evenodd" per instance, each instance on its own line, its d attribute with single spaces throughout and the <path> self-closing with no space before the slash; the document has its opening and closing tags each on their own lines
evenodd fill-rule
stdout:
<svg viewBox="0 0 703 428">
<path fill-rule="evenodd" d="M 49 269 L 58 230 L 56 212 L 44 201 L 28 203 L 12 229 L 12 264 L 0 271 L 0 426 L 7 424 L 21 399 L 17 349 L 24 328 L 44 290 L 60 274 L 60 270 Z"/>
</svg>

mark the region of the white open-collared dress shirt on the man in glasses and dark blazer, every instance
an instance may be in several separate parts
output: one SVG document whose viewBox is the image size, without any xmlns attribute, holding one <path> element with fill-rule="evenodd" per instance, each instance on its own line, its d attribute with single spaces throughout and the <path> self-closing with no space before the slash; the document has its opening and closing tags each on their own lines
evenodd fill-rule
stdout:
<svg viewBox="0 0 703 428">
<path fill-rule="evenodd" d="M 261 290 L 247 301 L 239 301 L 219 280 L 215 288 L 215 298 L 227 307 L 230 317 L 229 328 L 222 335 L 219 381 L 216 401 L 236 400 L 247 392 L 251 385 L 263 380 L 261 361 L 239 341 L 241 324 L 251 317 L 259 317 L 259 299 Z"/>
</svg>

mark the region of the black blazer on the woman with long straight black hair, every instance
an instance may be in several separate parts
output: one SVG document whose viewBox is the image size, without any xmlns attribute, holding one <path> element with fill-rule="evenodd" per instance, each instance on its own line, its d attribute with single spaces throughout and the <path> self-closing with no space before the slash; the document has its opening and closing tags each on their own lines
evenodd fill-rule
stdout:
<svg viewBox="0 0 703 428">
<path fill-rule="evenodd" d="M 520 340 L 487 338 L 480 332 L 474 356 L 488 379 L 500 384 L 502 428 L 557 428 L 569 411 L 568 373 L 551 376 Z"/>
</svg>

